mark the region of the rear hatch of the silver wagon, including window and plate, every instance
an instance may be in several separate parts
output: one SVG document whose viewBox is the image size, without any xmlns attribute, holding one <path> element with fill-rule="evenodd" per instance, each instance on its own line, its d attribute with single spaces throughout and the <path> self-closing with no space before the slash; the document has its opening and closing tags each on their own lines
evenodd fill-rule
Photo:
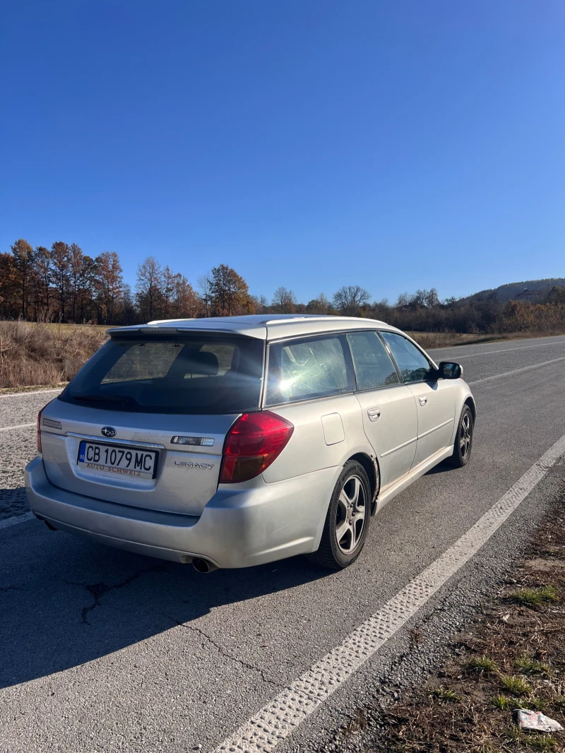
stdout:
<svg viewBox="0 0 565 753">
<path fill-rule="evenodd" d="M 47 477 L 89 497 L 200 514 L 225 435 L 258 408 L 263 352 L 253 337 L 118 331 L 41 414 Z"/>
</svg>

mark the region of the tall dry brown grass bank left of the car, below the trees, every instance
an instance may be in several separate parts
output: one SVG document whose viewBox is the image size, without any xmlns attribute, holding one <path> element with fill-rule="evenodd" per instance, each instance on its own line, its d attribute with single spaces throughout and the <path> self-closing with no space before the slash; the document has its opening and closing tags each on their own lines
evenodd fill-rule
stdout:
<svg viewBox="0 0 565 753">
<path fill-rule="evenodd" d="M 0 322 L 0 388 L 69 381 L 105 342 L 105 329 Z"/>
</svg>

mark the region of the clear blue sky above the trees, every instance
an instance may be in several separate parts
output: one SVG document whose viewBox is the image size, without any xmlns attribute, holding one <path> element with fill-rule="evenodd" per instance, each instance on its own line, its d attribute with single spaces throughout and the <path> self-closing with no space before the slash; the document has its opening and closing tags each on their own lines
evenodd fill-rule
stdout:
<svg viewBox="0 0 565 753">
<path fill-rule="evenodd" d="M 305 302 L 565 276 L 562 0 L 20 0 L 0 29 L 2 251 Z"/>
</svg>

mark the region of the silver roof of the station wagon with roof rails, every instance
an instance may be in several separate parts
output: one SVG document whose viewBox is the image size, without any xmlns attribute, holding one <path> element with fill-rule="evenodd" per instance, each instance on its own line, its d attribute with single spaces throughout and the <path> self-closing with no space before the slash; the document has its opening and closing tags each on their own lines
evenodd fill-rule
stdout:
<svg viewBox="0 0 565 753">
<path fill-rule="evenodd" d="M 317 314 L 252 314 L 249 316 L 210 316 L 207 319 L 159 319 L 147 325 L 133 325 L 108 330 L 110 334 L 127 331 L 147 333 L 159 329 L 174 331 L 214 331 L 256 337 L 258 340 L 279 340 L 286 337 L 341 332 L 355 329 L 388 329 L 399 331 L 377 319 L 356 316 L 318 316 Z"/>
</svg>

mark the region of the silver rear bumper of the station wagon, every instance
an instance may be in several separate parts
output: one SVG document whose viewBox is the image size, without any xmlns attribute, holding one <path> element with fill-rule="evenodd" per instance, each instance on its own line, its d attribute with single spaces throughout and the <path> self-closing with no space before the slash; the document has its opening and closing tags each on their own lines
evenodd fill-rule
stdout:
<svg viewBox="0 0 565 753">
<path fill-rule="evenodd" d="M 316 551 L 341 468 L 254 489 L 218 489 L 200 516 L 134 508 L 53 486 L 37 457 L 26 468 L 36 516 L 57 529 L 149 556 L 238 568 Z"/>
</svg>

